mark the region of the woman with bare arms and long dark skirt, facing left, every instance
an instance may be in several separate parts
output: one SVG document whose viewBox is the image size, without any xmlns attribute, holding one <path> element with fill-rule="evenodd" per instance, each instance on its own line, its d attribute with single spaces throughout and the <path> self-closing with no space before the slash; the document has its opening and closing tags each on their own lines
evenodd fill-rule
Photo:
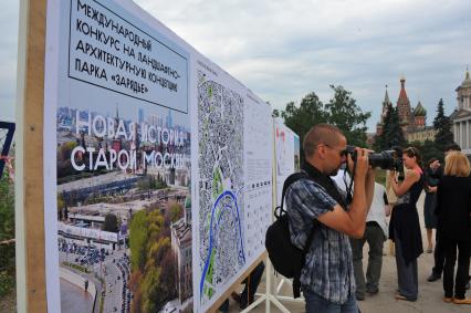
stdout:
<svg viewBox="0 0 471 313">
<path fill-rule="evenodd" d="M 398 197 L 389 223 L 389 238 L 395 241 L 398 280 L 397 300 L 416 301 L 419 294 L 417 258 L 423 252 L 417 200 L 423 189 L 420 153 L 415 147 L 402 150 L 404 166 L 410 170 L 399 184 L 396 175 L 390 185 Z"/>
</svg>

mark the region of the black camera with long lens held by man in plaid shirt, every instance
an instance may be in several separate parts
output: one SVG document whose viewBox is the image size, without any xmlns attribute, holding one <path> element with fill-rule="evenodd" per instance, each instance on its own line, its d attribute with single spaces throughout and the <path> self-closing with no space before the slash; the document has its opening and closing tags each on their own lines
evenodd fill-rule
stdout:
<svg viewBox="0 0 471 313">
<path fill-rule="evenodd" d="M 352 156 L 352 159 L 356 161 L 356 150 L 355 146 L 346 147 L 346 154 Z M 402 166 L 402 149 L 399 147 L 394 147 L 390 150 L 384 150 L 377 154 L 368 155 L 368 163 L 371 167 L 379 167 L 381 169 L 396 170 L 399 174 L 404 173 Z"/>
</svg>

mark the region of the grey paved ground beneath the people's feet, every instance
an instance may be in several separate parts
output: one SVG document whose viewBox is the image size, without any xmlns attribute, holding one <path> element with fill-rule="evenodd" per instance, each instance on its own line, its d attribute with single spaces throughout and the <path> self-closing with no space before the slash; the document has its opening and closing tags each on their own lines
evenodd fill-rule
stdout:
<svg viewBox="0 0 471 313">
<path fill-rule="evenodd" d="M 426 230 L 423 228 L 423 194 L 419 199 L 418 208 L 420 222 L 422 226 L 422 239 L 423 243 L 427 244 Z M 435 236 L 435 233 L 433 233 Z M 367 248 L 367 246 L 365 247 Z M 426 247 L 425 247 L 426 248 Z M 389 255 L 389 242 L 385 243 L 384 252 L 386 255 L 383 259 L 383 271 L 379 283 L 379 293 L 374 296 L 367 296 L 365 301 L 359 302 L 362 312 L 471 312 L 471 305 L 457 305 L 448 304 L 442 301 L 443 286 L 442 281 L 428 282 L 427 277 L 430 274 L 431 268 L 433 267 L 433 255 L 430 253 L 423 253 L 419 258 L 419 299 L 417 302 L 397 301 L 394 299 L 395 291 L 397 289 L 397 277 L 396 277 L 396 261 L 395 257 Z M 367 249 L 364 255 L 367 255 Z M 365 263 L 365 259 L 364 259 Z M 366 265 L 366 264 L 364 264 Z M 365 268 L 366 272 L 366 268 Z M 266 274 L 266 272 L 265 272 Z M 273 273 L 270 273 L 273 277 Z M 273 277 L 273 279 L 275 279 Z M 265 291 L 265 278 L 262 279 L 259 292 Z M 284 284 L 282 293 L 285 295 L 292 295 L 291 289 L 287 284 Z M 468 291 L 467 296 L 471 296 L 471 291 Z M 304 312 L 304 303 L 283 302 L 285 307 L 290 312 Z M 239 307 L 231 300 L 230 312 L 239 312 Z M 261 303 L 251 312 L 262 313 L 265 312 L 265 304 Z M 270 312 L 281 312 L 275 305 L 271 304 Z"/>
</svg>

